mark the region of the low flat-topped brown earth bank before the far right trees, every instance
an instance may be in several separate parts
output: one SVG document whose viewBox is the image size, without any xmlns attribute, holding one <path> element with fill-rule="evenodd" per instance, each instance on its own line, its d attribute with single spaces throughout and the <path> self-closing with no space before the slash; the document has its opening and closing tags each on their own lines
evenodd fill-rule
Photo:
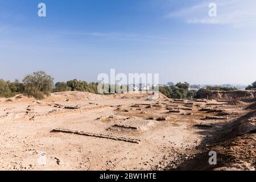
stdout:
<svg viewBox="0 0 256 182">
<path fill-rule="evenodd" d="M 201 98 L 213 100 L 240 100 L 244 98 L 255 98 L 256 90 L 235 90 L 235 91 L 205 91 Z"/>
</svg>

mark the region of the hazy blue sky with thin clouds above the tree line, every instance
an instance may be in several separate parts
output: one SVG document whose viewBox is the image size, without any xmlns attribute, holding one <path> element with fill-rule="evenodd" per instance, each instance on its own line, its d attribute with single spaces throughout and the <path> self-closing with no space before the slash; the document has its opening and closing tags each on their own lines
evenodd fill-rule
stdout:
<svg viewBox="0 0 256 182">
<path fill-rule="evenodd" d="M 250 84 L 255 32 L 255 0 L 0 0 L 0 78 L 43 70 L 97 81 L 115 68 L 159 73 L 160 83 Z"/>
</svg>

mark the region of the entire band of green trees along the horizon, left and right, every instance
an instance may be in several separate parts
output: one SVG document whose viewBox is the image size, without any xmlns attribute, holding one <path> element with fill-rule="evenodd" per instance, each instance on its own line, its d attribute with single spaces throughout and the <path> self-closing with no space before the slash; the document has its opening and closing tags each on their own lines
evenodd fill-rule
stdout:
<svg viewBox="0 0 256 182">
<path fill-rule="evenodd" d="M 53 84 L 53 77 L 46 72 L 34 72 L 23 78 L 22 82 L 14 82 L 0 79 L 0 97 L 14 97 L 16 94 L 24 94 L 28 97 L 43 99 L 51 92 L 80 91 L 98 94 L 98 82 L 86 82 L 81 80 L 69 80 L 67 82 L 57 82 Z M 110 88 L 110 86 L 109 86 Z M 128 88 L 128 87 L 127 87 Z M 247 86 L 247 90 L 256 89 L 256 81 Z M 178 82 L 176 85 L 159 86 L 159 92 L 169 98 L 200 98 L 201 94 L 207 90 L 237 90 L 235 87 L 207 86 L 199 90 L 189 90 L 188 82 Z"/>
</svg>

